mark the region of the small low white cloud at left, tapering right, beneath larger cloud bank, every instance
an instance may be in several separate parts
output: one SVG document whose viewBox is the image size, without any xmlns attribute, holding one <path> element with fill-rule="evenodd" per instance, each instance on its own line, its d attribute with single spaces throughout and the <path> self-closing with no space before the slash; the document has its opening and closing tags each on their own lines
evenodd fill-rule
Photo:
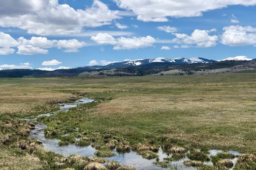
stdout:
<svg viewBox="0 0 256 170">
<path fill-rule="evenodd" d="M 20 55 L 33 55 L 33 54 L 47 54 L 47 49 L 40 49 L 38 47 L 33 47 L 31 45 L 27 46 L 18 46 L 18 52 L 17 54 Z"/>
</svg>

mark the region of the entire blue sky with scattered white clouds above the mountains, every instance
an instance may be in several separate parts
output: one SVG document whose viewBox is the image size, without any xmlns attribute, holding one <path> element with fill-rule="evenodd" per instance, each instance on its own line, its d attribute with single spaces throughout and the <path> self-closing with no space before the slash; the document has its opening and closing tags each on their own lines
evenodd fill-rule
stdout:
<svg viewBox="0 0 256 170">
<path fill-rule="evenodd" d="M 256 58 L 256 0 L 0 0 L 0 70 Z"/>
</svg>

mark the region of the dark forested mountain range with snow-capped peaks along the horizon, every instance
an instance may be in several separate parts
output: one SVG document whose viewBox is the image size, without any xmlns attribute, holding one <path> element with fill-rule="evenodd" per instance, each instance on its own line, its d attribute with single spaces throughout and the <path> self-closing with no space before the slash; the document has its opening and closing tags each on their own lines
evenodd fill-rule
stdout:
<svg viewBox="0 0 256 170">
<path fill-rule="evenodd" d="M 229 57 L 224 60 L 215 61 L 200 57 L 192 58 L 155 58 L 155 59 L 138 59 L 126 60 L 123 62 L 111 63 L 104 66 L 85 66 L 79 68 L 59 67 L 39 68 L 36 70 L 16 69 L 1 70 L 0 77 L 53 77 L 53 76 L 127 76 L 127 75 L 150 75 L 174 72 L 179 74 L 191 74 L 199 72 L 203 74 L 206 70 L 228 69 L 240 65 L 253 66 L 255 68 L 256 59 L 246 56 Z M 238 67 L 237 67 L 238 68 Z M 240 67 L 239 67 L 240 68 Z M 245 67 L 241 67 L 245 68 Z M 252 69 L 252 68 L 250 68 Z M 212 73 L 212 71 L 211 71 Z M 222 72 L 216 72 L 222 73 Z"/>
</svg>

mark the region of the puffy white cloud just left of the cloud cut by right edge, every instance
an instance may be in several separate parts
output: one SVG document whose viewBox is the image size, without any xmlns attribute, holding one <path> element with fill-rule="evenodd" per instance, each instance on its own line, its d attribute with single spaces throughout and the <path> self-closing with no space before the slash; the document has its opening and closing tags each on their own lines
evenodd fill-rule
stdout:
<svg viewBox="0 0 256 170">
<path fill-rule="evenodd" d="M 207 48 L 214 47 L 217 45 L 218 36 L 217 35 L 209 35 L 211 32 L 215 32 L 216 29 L 211 30 L 199 30 L 195 29 L 191 36 L 187 34 L 173 33 L 176 36 L 173 39 L 173 42 L 182 44 L 181 48 Z"/>
</svg>

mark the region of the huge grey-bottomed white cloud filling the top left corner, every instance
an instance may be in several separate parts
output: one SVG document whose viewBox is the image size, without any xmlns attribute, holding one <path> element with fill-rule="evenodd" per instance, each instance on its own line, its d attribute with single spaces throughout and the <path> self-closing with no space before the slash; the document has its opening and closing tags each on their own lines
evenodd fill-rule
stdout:
<svg viewBox="0 0 256 170">
<path fill-rule="evenodd" d="M 80 33 L 85 26 L 111 24 L 120 18 L 117 14 L 99 0 L 85 10 L 75 10 L 58 0 L 2 0 L 0 26 L 18 27 L 37 35 L 65 35 Z"/>
</svg>

